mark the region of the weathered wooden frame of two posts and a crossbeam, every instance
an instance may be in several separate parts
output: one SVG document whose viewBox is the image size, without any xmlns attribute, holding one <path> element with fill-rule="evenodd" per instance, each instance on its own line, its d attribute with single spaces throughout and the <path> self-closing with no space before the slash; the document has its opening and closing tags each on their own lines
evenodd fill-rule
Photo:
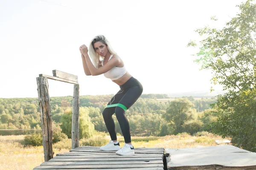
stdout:
<svg viewBox="0 0 256 170">
<path fill-rule="evenodd" d="M 79 83 L 78 77 L 63 71 L 53 70 L 53 76 L 39 74 L 36 78 L 38 85 L 38 101 L 41 110 L 41 124 L 43 133 L 44 161 L 53 158 L 52 151 L 52 113 L 50 107 L 49 85 L 47 79 L 58 80 L 74 84 L 73 112 L 72 112 L 72 149 L 79 147 Z"/>
</svg>

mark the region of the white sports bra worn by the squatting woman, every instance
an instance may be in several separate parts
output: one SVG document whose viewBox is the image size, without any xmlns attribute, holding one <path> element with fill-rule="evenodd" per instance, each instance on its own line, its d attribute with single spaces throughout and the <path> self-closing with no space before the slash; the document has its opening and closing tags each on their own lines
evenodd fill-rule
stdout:
<svg viewBox="0 0 256 170">
<path fill-rule="evenodd" d="M 108 61 L 113 57 L 113 54 L 111 54 L 111 56 L 109 57 Z M 103 60 L 102 60 L 102 66 L 103 66 Z M 113 67 L 111 68 L 111 70 L 109 70 L 108 72 L 104 73 L 104 76 L 111 79 L 111 80 L 116 80 L 119 79 L 120 77 L 122 77 L 123 75 L 125 75 L 125 73 L 127 72 L 125 66 L 123 67 Z"/>
</svg>

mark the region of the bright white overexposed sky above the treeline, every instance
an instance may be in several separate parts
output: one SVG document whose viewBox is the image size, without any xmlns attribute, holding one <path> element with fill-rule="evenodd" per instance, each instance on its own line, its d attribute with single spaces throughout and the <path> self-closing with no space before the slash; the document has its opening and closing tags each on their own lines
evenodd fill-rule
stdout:
<svg viewBox="0 0 256 170">
<path fill-rule="evenodd" d="M 196 28 L 222 28 L 243 0 L 0 0 L 0 98 L 38 97 L 36 77 L 78 76 L 80 95 L 116 94 L 110 79 L 86 76 L 79 46 L 103 34 L 143 85 L 143 94 L 209 91 L 210 71 L 187 48 Z M 218 21 L 210 20 L 216 16 Z M 50 96 L 73 85 L 48 79 Z M 218 88 L 218 87 L 216 87 Z"/>
</svg>

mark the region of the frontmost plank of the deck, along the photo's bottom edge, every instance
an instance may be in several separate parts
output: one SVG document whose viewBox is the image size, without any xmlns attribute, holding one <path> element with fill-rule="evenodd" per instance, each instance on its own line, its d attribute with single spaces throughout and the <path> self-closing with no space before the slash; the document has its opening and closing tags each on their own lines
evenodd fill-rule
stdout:
<svg viewBox="0 0 256 170">
<path fill-rule="evenodd" d="M 44 169 L 102 169 L 102 168 L 140 168 L 140 167 L 163 167 L 163 164 L 116 164 L 116 165 L 56 165 L 56 166 L 39 166 L 35 167 L 34 170 Z"/>
</svg>

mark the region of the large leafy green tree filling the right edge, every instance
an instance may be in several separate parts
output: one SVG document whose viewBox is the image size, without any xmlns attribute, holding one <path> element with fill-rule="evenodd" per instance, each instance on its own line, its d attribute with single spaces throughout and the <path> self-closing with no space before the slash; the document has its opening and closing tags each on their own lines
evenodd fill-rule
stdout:
<svg viewBox="0 0 256 170">
<path fill-rule="evenodd" d="M 222 29 L 196 30 L 200 42 L 198 58 L 202 69 L 209 69 L 211 82 L 220 84 L 224 95 L 218 95 L 213 108 L 218 119 L 214 133 L 232 137 L 232 143 L 256 151 L 256 4 L 247 0 L 239 13 Z M 215 18 L 213 18 L 216 20 Z M 195 46 L 194 41 L 188 46 Z"/>
</svg>

